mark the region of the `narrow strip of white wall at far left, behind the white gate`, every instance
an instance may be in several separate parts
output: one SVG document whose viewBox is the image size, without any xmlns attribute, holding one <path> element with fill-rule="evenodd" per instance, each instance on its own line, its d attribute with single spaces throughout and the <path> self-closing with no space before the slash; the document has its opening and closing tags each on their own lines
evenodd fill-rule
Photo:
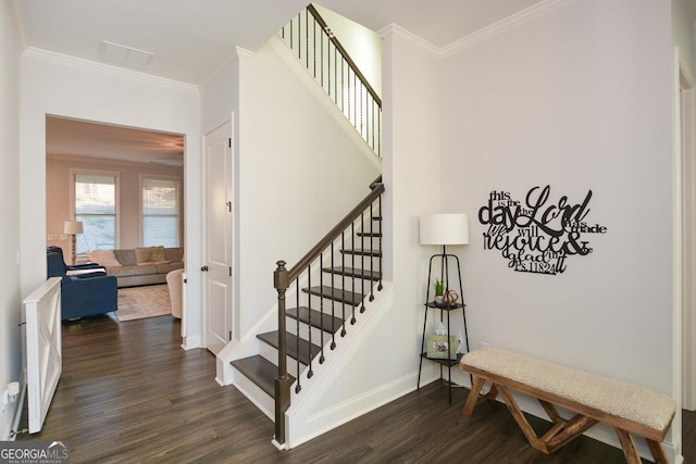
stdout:
<svg viewBox="0 0 696 464">
<path fill-rule="evenodd" d="M 0 391 L 20 380 L 22 340 L 20 322 L 20 53 L 18 27 L 10 2 L 0 2 Z M 5 417 L 0 417 L 4 424 Z"/>
</svg>

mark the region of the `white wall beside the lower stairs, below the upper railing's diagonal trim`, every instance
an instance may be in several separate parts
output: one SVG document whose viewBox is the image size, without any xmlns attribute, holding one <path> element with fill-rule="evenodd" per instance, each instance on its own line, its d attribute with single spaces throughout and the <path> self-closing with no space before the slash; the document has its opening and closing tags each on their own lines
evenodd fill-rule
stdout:
<svg viewBox="0 0 696 464">
<path fill-rule="evenodd" d="M 274 47 L 264 45 L 239 67 L 235 181 L 244 334 L 277 301 L 276 261 L 288 267 L 299 261 L 380 173 L 306 87 L 309 74 L 294 74 Z"/>
</svg>

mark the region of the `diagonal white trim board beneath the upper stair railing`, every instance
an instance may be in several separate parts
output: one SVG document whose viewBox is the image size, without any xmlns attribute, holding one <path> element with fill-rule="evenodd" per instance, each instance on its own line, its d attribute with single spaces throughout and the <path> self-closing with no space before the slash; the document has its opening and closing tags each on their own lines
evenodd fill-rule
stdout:
<svg viewBox="0 0 696 464">
<path fill-rule="evenodd" d="M 277 36 L 273 36 L 268 42 L 275 53 L 287 64 L 288 68 L 297 76 L 297 78 L 304 85 L 309 92 L 316 99 L 321 106 L 326 111 L 332 120 L 343 129 L 349 140 L 356 146 L 360 154 L 362 154 L 368 162 L 374 166 L 378 173 L 382 173 L 382 161 L 372 151 L 368 142 L 360 136 L 356 128 L 350 124 L 350 121 L 346 117 L 343 111 L 332 101 L 331 97 L 326 95 L 316 79 L 311 76 L 307 71 L 307 67 L 295 57 L 293 50 Z"/>
</svg>

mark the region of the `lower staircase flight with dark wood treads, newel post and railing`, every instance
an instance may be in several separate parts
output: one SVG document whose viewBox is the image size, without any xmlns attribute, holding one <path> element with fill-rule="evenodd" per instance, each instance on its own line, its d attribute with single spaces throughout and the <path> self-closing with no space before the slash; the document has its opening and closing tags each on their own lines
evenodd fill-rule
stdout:
<svg viewBox="0 0 696 464">
<path fill-rule="evenodd" d="M 377 179 L 370 193 L 297 265 L 288 269 L 278 261 L 274 272 L 278 329 L 256 336 L 259 354 L 232 361 L 234 369 L 273 400 L 279 448 L 285 442 L 291 392 L 300 394 L 316 363 L 331 361 L 332 351 L 374 300 L 375 290 L 382 290 L 383 193 L 384 185 Z M 286 308 L 288 297 L 293 308 Z"/>
</svg>

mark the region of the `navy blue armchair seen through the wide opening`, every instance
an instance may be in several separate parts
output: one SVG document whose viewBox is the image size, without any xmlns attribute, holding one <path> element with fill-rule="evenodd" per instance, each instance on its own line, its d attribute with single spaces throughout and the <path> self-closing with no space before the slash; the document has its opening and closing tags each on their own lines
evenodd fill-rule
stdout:
<svg viewBox="0 0 696 464">
<path fill-rule="evenodd" d="M 46 250 L 48 277 L 61 277 L 61 308 L 63 321 L 116 311 L 117 283 L 102 266 L 85 264 L 69 266 L 59 247 Z M 67 275 L 69 271 L 82 274 Z"/>
</svg>

